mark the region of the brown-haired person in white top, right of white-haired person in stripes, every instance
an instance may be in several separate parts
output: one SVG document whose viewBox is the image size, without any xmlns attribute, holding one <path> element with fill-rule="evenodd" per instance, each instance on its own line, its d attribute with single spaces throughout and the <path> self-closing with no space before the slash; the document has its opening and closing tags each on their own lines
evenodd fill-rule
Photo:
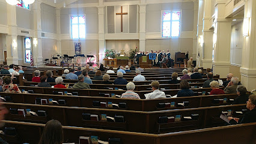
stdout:
<svg viewBox="0 0 256 144">
<path fill-rule="evenodd" d="M 166 98 L 165 92 L 159 91 L 159 82 L 151 82 L 153 92 L 145 94 L 146 99 Z"/>
</svg>

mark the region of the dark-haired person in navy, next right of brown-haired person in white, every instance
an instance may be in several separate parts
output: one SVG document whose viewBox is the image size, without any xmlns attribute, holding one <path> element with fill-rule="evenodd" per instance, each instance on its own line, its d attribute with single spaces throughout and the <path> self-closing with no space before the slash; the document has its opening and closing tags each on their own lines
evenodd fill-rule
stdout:
<svg viewBox="0 0 256 144">
<path fill-rule="evenodd" d="M 189 83 L 187 80 L 181 80 L 180 82 L 180 91 L 177 93 L 177 97 L 191 97 L 194 96 L 194 91 L 189 89 Z"/>
</svg>

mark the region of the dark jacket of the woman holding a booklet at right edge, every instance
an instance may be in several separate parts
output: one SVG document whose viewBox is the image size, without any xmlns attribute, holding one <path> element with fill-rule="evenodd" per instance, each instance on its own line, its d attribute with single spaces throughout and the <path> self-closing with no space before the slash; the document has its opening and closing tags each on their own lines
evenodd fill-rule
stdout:
<svg viewBox="0 0 256 144">
<path fill-rule="evenodd" d="M 246 112 L 245 115 L 243 115 L 243 118 L 240 118 L 238 123 L 234 120 L 230 120 L 230 124 L 246 124 L 250 122 L 256 122 L 256 109 L 249 110 L 249 112 Z"/>
</svg>

